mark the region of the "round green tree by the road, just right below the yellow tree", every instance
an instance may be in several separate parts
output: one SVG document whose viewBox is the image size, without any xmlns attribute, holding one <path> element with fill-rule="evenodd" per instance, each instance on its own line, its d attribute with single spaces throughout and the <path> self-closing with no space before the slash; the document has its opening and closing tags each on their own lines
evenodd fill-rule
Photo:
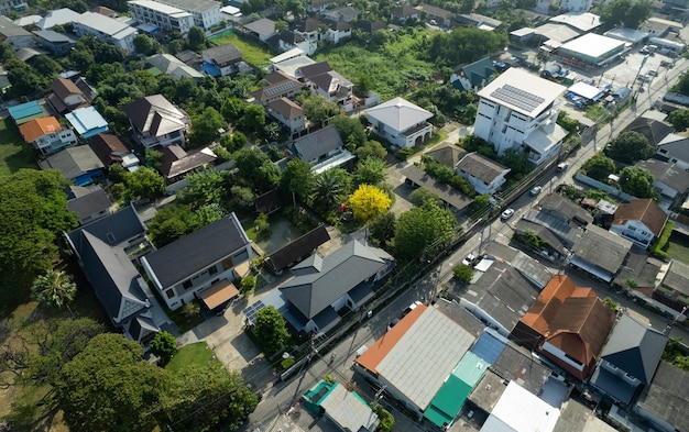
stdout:
<svg viewBox="0 0 689 432">
<path fill-rule="evenodd" d="M 395 229 L 395 257 L 429 257 L 452 240 L 457 219 L 451 211 L 426 202 L 400 214 Z"/>
</svg>

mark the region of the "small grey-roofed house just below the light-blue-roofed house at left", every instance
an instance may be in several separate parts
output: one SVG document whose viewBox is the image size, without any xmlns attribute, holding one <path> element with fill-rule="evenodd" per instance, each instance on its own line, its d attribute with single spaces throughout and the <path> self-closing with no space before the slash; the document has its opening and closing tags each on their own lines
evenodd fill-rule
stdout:
<svg viewBox="0 0 689 432">
<path fill-rule="evenodd" d="M 57 169 L 68 181 L 88 186 L 102 177 L 103 165 L 88 145 L 68 147 L 39 162 L 41 169 Z"/>
</svg>

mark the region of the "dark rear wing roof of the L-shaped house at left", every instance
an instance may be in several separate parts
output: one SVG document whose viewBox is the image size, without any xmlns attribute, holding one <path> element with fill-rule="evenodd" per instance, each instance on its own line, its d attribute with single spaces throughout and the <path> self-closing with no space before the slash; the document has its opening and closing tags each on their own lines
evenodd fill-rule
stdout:
<svg viewBox="0 0 689 432">
<path fill-rule="evenodd" d="M 79 245 L 81 231 L 87 231 L 111 246 L 127 246 L 129 240 L 143 235 L 146 228 L 141 222 L 136 209 L 129 206 L 68 233 L 67 236 L 77 248 L 81 247 Z"/>
</svg>

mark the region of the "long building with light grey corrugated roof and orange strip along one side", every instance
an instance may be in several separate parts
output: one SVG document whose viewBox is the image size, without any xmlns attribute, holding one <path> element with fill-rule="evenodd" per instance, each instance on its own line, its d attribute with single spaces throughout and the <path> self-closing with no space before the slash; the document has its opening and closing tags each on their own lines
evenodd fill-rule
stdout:
<svg viewBox="0 0 689 432">
<path fill-rule="evenodd" d="M 420 420 L 475 340 L 439 309 L 419 304 L 354 359 L 354 370 Z"/>
</svg>

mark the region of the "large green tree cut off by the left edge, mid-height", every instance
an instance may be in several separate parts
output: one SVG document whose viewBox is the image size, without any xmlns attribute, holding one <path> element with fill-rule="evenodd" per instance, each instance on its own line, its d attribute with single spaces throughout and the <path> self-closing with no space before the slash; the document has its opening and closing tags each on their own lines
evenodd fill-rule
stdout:
<svg viewBox="0 0 689 432">
<path fill-rule="evenodd" d="M 52 268 L 57 239 L 77 226 L 67 211 L 67 181 L 53 169 L 20 169 L 0 179 L 0 292 L 29 295 L 34 278 Z"/>
</svg>

